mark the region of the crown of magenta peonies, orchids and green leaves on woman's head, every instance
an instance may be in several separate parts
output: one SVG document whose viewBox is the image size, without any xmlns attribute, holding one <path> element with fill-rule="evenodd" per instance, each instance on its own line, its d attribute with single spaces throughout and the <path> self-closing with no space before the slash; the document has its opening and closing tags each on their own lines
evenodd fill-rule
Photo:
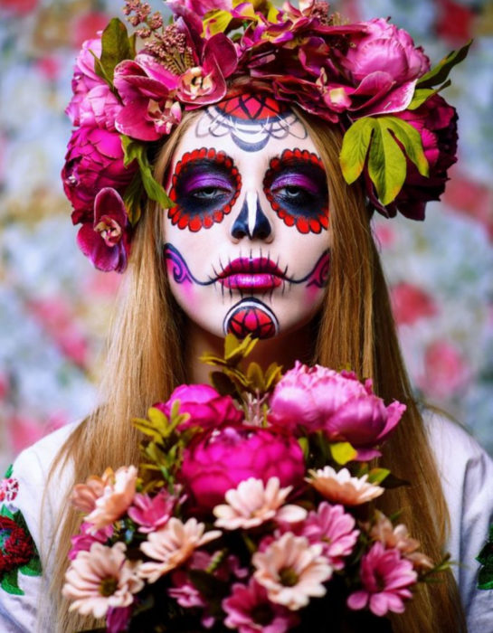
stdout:
<svg viewBox="0 0 493 633">
<path fill-rule="evenodd" d="M 457 149 L 457 114 L 439 92 L 469 43 L 430 70 L 409 33 L 384 19 L 344 24 L 318 0 L 299 0 L 299 9 L 269 0 L 166 5 L 167 25 L 147 3 L 127 0 L 136 32 L 114 18 L 76 61 L 62 179 L 82 225 L 78 244 L 98 269 L 126 269 L 146 197 L 172 206 L 153 178 L 152 146 L 184 110 L 235 90 L 268 90 L 339 126 L 346 182 L 363 180 L 385 216 L 422 220 L 439 199 Z"/>
</svg>

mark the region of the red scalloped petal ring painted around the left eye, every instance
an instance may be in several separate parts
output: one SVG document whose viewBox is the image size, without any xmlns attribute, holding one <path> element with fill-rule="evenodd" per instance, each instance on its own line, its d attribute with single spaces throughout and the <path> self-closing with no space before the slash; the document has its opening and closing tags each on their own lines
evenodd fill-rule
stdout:
<svg viewBox="0 0 493 633">
<path fill-rule="evenodd" d="M 242 176 L 238 169 L 234 166 L 232 158 L 227 156 L 224 152 L 216 152 L 213 148 L 201 147 L 200 149 L 194 149 L 193 152 L 186 152 L 177 163 L 175 167 L 175 173 L 172 178 L 172 187 L 169 192 L 169 198 L 176 202 L 176 184 L 180 173 L 186 169 L 186 165 L 189 165 L 194 160 L 200 159 L 214 160 L 218 165 L 224 165 L 232 176 L 234 182 L 235 191 L 232 199 L 219 209 L 214 209 L 211 212 L 203 214 L 188 213 L 179 204 L 171 207 L 168 211 L 168 218 L 173 225 L 177 225 L 179 229 L 189 229 L 196 232 L 201 229 L 210 229 L 214 223 L 223 222 L 224 215 L 231 212 L 234 203 L 236 202 L 240 191 L 242 189 Z"/>
</svg>

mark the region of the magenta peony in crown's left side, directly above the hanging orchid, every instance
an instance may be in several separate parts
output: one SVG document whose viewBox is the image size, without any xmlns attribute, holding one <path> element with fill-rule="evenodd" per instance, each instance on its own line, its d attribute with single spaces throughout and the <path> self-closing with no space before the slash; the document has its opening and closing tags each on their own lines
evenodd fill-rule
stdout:
<svg viewBox="0 0 493 633">
<path fill-rule="evenodd" d="M 62 169 L 63 189 L 74 208 L 72 222 L 92 222 L 96 195 L 104 187 L 125 190 L 137 165 L 123 165 L 118 134 L 102 128 L 76 129 Z"/>
</svg>

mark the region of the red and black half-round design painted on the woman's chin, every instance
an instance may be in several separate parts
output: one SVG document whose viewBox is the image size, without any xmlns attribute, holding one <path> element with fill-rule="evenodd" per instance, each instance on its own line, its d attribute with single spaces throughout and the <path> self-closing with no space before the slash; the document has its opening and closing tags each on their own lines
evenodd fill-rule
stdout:
<svg viewBox="0 0 493 633">
<path fill-rule="evenodd" d="M 253 335 L 256 338 L 271 338 L 279 332 L 279 322 L 270 307 L 259 299 L 248 297 L 235 304 L 223 321 L 224 335 L 238 338 Z"/>
</svg>

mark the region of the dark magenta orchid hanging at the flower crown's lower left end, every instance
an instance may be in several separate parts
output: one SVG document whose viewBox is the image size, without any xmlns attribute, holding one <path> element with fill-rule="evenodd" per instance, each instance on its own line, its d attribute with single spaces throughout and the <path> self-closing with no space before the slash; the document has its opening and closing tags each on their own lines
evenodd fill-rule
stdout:
<svg viewBox="0 0 493 633">
<path fill-rule="evenodd" d="M 123 272 L 130 250 L 125 204 L 111 187 L 101 189 L 94 201 L 94 222 L 84 222 L 77 235 L 81 251 L 97 269 Z"/>
</svg>

